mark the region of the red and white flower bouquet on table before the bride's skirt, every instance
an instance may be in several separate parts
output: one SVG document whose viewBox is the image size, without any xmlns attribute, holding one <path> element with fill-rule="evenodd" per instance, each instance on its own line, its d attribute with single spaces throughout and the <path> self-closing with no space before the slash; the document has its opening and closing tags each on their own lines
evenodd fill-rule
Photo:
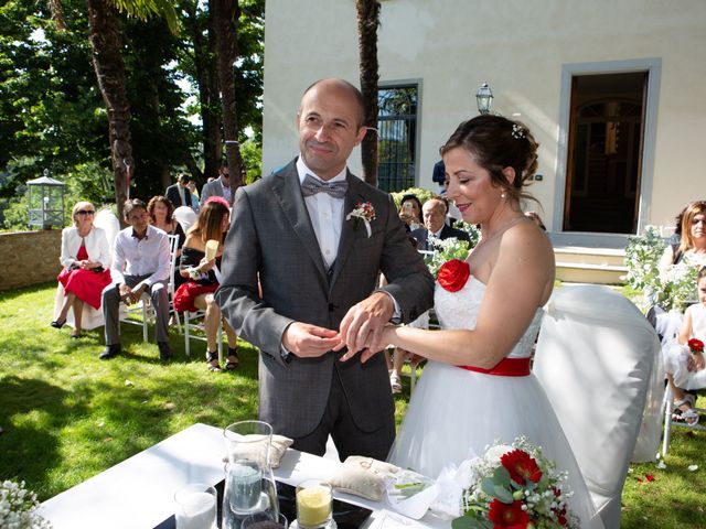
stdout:
<svg viewBox="0 0 706 529">
<path fill-rule="evenodd" d="M 495 444 L 483 457 L 461 464 L 466 482 L 462 516 L 453 529 L 575 529 L 578 518 L 568 508 L 573 493 L 567 473 L 555 468 L 527 438 L 511 446 Z"/>
</svg>

